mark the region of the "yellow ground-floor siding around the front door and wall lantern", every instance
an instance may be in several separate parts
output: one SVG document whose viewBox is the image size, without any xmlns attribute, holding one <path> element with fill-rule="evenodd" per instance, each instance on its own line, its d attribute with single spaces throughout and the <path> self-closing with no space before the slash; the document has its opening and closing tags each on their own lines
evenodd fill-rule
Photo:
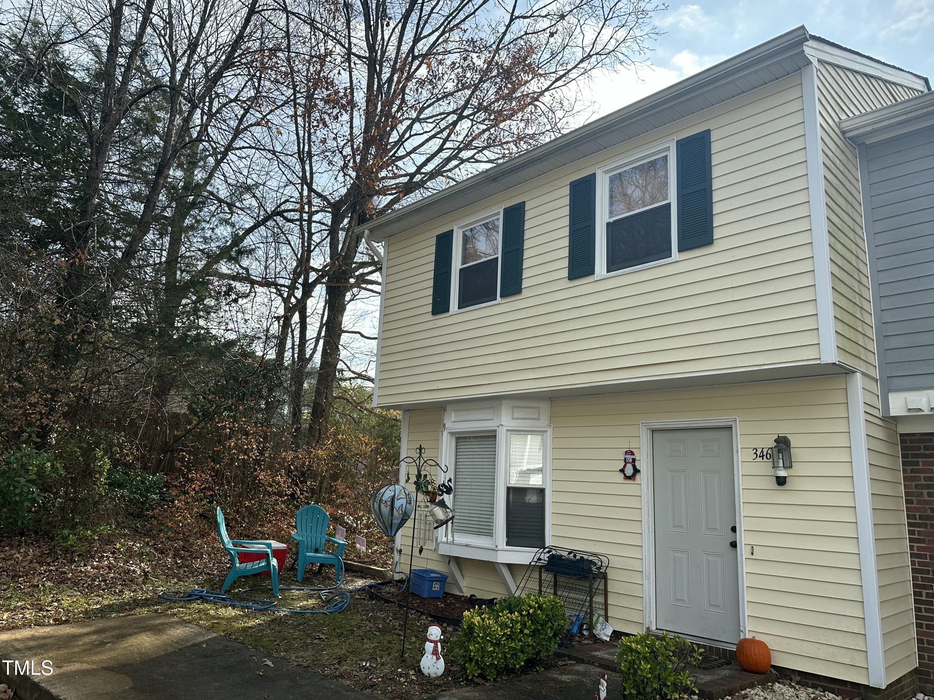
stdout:
<svg viewBox="0 0 934 700">
<path fill-rule="evenodd" d="M 642 486 L 618 475 L 622 451 L 641 455 L 641 421 L 730 416 L 740 425 L 749 634 L 775 665 L 867 682 L 842 376 L 553 399 L 552 542 L 608 554 L 611 623 L 641 631 Z M 785 487 L 751 461 L 776 433 L 792 442 Z"/>
</svg>

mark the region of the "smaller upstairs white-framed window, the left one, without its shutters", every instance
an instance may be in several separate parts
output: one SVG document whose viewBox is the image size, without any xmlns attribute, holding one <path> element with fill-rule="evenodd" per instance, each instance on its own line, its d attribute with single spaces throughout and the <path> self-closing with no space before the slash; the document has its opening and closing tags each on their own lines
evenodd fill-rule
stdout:
<svg viewBox="0 0 934 700">
<path fill-rule="evenodd" d="M 502 209 L 485 212 L 454 227 L 452 311 L 500 301 Z"/>
</svg>

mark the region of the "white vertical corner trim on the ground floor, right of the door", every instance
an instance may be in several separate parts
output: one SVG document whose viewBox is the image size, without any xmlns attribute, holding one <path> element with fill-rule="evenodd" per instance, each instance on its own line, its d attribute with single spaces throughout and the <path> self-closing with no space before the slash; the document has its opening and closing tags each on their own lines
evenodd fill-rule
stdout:
<svg viewBox="0 0 934 700">
<path fill-rule="evenodd" d="M 867 665 L 870 686 L 884 688 L 885 654 L 882 642 L 882 611 L 879 603 L 875 534 L 872 527 L 870 457 L 866 441 L 863 375 L 859 372 L 846 375 L 846 402 L 850 415 L 850 452 L 853 458 L 853 493 L 856 499 L 856 533 L 859 538 L 859 570 L 862 576 Z"/>
</svg>

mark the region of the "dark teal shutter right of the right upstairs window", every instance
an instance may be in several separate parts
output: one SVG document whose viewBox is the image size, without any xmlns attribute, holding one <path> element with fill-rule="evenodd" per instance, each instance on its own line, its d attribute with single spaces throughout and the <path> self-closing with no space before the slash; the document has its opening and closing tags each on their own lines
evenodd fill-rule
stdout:
<svg viewBox="0 0 934 700">
<path fill-rule="evenodd" d="M 714 243 L 710 129 L 678 139 L 678 250 Z"/>
</svg>

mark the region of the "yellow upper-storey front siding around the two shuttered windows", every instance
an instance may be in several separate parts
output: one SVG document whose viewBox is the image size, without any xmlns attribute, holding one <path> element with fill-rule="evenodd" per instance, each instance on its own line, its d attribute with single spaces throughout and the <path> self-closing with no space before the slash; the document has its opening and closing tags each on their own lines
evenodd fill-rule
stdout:
<svg viewBox="0 0 934 700">
<path fill-rule="evenodd" d="M 568 183 L 706 128 L 714 245 L 635 273 L 569 281 Z M 435 235 L 520 201 L 522 293 L 432 316 Z M 800 76 L 392 237 L 383 313 L 381 405 L 818 361 Z M 775 322 L 782 333 L 771 331 Z"/>
</svg>

